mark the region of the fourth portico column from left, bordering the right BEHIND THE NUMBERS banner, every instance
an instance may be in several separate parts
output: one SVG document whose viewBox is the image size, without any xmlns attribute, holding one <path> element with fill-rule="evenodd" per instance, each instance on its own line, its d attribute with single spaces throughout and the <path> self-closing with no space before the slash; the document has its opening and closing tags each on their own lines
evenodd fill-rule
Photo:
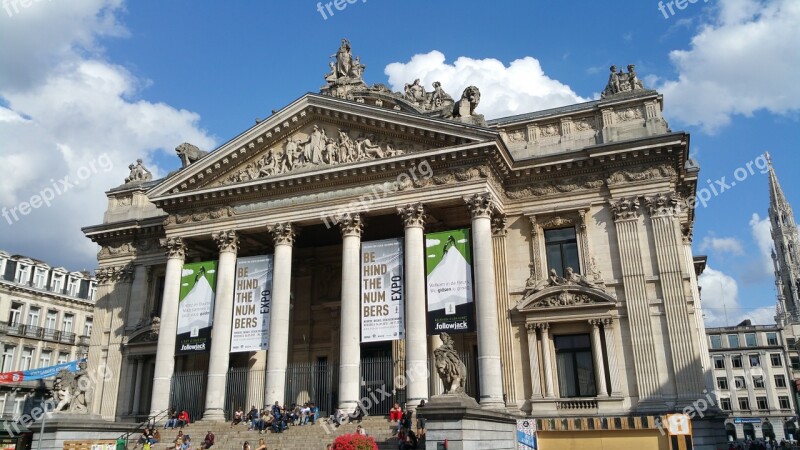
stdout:
<svg viewBox="0 0 800 450">
<path fill-rule="evenodd" d="M 364 225 L 359 214 L 345 214 L 339 221 L 339 226 L 342 230 L 339 408 L 347 414 L 355 411 L 361 380 L 361 327 L 359 326 L 361 315 L 358 309 L 361 288 L 361 232 Z"/>
</svg>

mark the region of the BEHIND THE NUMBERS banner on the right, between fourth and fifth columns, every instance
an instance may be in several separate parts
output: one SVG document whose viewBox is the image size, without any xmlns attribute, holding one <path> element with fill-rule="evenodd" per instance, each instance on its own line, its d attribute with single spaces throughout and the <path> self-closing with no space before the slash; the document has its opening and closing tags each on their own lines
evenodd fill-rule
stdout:
<svg viewBox="0 0 800 450">
<path fill-rule="evenodd" d="M 361 342 L 405 338 L 403 239 L 361 244 Z"/>
</svg>

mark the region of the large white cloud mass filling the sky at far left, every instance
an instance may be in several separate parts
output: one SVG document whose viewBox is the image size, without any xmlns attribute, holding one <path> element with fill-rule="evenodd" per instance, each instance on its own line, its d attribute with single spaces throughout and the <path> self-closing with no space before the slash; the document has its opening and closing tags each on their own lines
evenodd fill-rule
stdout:
<svg viewBox="0 0 800 450">
<path fill-rule="evenodd" d="M 80 229 L 102 221 L 104 192 L 123 182 L 128 164 L 143 158 L 159 177 L 152 152 L 184 141 L 214 146 L 196 113 L 132 100 L 148 82 L 107 61 L 99 45 L 125 35 L 120 4 L 34 2 L 0 13 L 0 39 L 14 43 L 0 46 L 0 207 L 17 208 L 19 219 L 0 217 L 4 250 L 91 269 L 96 247 Z M 98 164 L 103 158 L 109 164 Z M 64 177 L 78 183 L 51 206 L 19 213 L 21 202 Z"/>
</svg>

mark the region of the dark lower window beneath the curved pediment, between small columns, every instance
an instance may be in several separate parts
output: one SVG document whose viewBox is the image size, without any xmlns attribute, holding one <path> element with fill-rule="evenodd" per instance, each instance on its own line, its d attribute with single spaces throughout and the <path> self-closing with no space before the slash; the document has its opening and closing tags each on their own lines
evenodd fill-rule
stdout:
<svg viewBox="0 0 800 450">
<path fill-rule="evenodd" d="M 556 336 L 556 364 L 561 397 L 594 397 L 594 363 L 588 334 Z"/>
</svg>

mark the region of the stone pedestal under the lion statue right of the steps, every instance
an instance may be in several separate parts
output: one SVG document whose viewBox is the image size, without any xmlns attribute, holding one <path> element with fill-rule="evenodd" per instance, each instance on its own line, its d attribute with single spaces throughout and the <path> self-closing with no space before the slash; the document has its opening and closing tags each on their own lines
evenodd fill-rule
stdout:
<svg viewBox="0 0 800 450">
<path fill-rule="evenodd" d="M 481 408 L 465 395 L 437 395 L 417 410 L 424 417 L 425 448 L 436 450 L 447 440 L 448 450 L 516 448 L 516 418 L 502 411 Z"/>
</svg>

